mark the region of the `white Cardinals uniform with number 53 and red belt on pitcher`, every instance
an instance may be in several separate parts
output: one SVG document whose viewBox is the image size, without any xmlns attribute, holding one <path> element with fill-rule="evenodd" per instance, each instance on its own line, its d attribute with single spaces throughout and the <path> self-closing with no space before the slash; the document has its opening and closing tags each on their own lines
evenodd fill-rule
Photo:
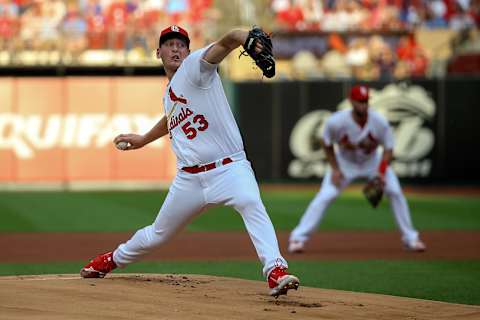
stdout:
<svg viewBox="0 0 480 320">
<path fill-rule="evenodd" d="M 178 172 L 155 222 L 114 251 L 119 267 L 138 261 L 204 209 L 218 204 L 231 206 L 242 216 L 265 276 L 276 266 L 287 267 L 217 65 L 203 59 L 208 48 L 191 53 L 166 87 L 163 102 Z"/>
</svg>

